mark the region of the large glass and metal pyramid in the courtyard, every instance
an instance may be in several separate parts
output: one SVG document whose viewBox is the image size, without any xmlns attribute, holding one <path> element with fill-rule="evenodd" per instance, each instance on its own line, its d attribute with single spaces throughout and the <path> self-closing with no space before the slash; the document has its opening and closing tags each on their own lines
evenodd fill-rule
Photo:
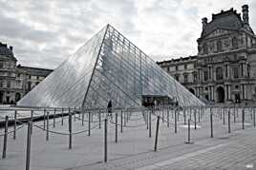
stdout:
<svg viewBox="0 0 256 170">
<path fill-rule="evenodd" d="M 143 96 L 167 96 L 181 106 L 203 105 L 115 28 L 107 25 L 17 105 L 104 108 L 142 104 Z"/>
</svg>

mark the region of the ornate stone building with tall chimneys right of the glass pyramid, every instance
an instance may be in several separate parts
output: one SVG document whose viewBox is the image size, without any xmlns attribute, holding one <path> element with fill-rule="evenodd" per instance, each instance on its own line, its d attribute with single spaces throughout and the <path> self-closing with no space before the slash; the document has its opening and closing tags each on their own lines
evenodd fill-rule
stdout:
<svg viewBox="0 0 256 170">
<path fill-rule="evenodd" d="M 248 6 L 242 16 L 234 9 L 202 19 L 198 55 L 158 62 L 170 75 L 205 102 L 256 101 L 256 36 Z"/>
</svg>

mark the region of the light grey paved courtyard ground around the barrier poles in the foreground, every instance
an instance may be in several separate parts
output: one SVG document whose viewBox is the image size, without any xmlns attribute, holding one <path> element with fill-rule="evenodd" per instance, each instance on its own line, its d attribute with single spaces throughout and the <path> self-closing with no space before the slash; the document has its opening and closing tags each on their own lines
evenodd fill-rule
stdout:
<svg viewBox="0 0 256 170">
<path fill-rule="evenodd" d="M 166 113 L 165 120 L 166 120 Z M 160 112 L 161 115 L 161 112 Z M 188 117 L 188 115 L 187 115 Z M 33 127 L 31 169 L 34 170 L 83 170 L 83 169 L 256 169 L 256 129 L 249 112 L 245 114 L 245 130 L 242 129 L 241 115 L 231 114 L 231 133 L 228 134 L 227 116 L 225 121 L 214 114 L 214 138 L 210 138 L 209 116 L 205 112 L 201 122 L 191 123 L 193 144 L 187 142 L 187 125 L 179 118 L 178 133 L 174 133 L 174 115 L 170 115 L 170 127 L 160 120 L 160 136 L 158 151 L 154 152 L 156 117 L 152 116 L 152 137 L 142 119 L 141 114 L 133 114 L 127 127 L 120 133 L 118 126 L 118 142 L 115 142 L 115 124 L 108 126 L 108 162 L 103 162 L 103 124 L 93 123 L 92 134 L 88 132 L 73 136 L 73 148 L 68 148 L 67 135 L 50 134 L 46 142 L 46 132 Z M 193 119 L 193 116 L 192 116 Z M 56 120 L 51 130 L 67 133 L 67 118 L 64 126 Z M 193 121 L 193 120 L 192 120 Z M 118 120 L 119 123 L 119 120 Z M 43 123 L 36 123 L 42 125 Z M 88 129 L 80 121 L 73 122 L 73 131 Z M 10 128 L 11 130 L 12 128 Z M 0 130 L 0 134 L 3 129 Z M 17 131 L 17 139 L 8 139 L 7 159 L 0 160 L 0 170 L 25 169 L 27 126 Z M 2 153 L 3 138 L 0 138 Z"/>
</svg>

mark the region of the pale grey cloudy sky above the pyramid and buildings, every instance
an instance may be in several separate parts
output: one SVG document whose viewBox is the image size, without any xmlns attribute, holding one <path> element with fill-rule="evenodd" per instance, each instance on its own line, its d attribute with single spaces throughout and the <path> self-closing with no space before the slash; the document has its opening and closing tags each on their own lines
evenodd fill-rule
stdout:
<svg viewBox="0 0 256 170">
<path fill-rule="evenodd" d="M 256 0 L 0 0 L 0 41 L 18 63 L 55 68 L 108 23 L 155 61 L 197 54 L 202 18 Z"/>
</svg>

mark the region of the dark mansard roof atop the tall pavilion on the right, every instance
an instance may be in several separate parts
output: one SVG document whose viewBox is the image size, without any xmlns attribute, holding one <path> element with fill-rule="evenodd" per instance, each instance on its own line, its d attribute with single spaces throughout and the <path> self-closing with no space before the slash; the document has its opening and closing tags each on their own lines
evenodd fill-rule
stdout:
<svg viewBox="0 0 256 170">
<path fill-rule="evenodd" d="M 205 37 L 217 28 L 239 31 L 244 26 L 245 23 L 241 19 L 241 13 L 237 13 L 233 8 L 225 11 L 222 10 L 220 13 L 212 14 L 212 21 L 203 28 L 201 37 Z M 249 28 L 249 31 L 253 33 L 251 28 Z"/>
</svg>

